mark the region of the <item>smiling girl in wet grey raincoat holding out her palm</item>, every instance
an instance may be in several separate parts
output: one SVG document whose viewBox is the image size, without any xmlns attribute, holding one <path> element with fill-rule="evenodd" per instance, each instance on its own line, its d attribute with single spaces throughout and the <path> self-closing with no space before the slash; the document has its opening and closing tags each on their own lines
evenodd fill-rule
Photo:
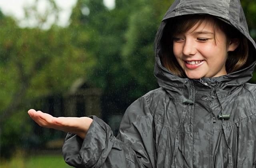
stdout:
<svg viewBox="0 0 256 168">
<path fill-rule="evenodd" d="M 96 116 L 28 113 L 71 132 L 62 151 L 75 167 L 255 167 L 256 45 L 239 0 L 176 0 L 154 51 L 160 88 L 128 107 L 117 137 Z"/>
</svg>

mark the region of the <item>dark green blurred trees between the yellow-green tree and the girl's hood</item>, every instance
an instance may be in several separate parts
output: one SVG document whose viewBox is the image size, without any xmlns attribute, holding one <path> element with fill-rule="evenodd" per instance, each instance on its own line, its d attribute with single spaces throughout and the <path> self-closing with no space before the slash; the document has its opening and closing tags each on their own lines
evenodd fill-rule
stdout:
<svg viewBox="0 0 256 168">
<path fill-rule="evenodd" d="M 153 0 L 116 0 L 116 8 L 108 10 L 102 0 L 78 0 L 70 31 L 75 31 L 74 39 L 88 35 L 80 46 L 97 60 L 88 80 L 104 90 L 104 113 L 123 113 L 132 101 L 157 87 L 153 42 L 162 8 L 169 3 L 156 9 L 158 2 Z"/>
</svg>

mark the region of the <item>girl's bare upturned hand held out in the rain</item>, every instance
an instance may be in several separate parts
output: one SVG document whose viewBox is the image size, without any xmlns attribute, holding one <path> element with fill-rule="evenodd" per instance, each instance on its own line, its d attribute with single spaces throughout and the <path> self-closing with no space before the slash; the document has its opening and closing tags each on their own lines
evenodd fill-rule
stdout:
<svg viewBox="0 0 256 168">
<path fill-rule="evenodd" d="M 53 117 L 50 114 L 34 109 L 28 110 L 28 114 L 42 127 L 71 132 L 77 134 L 82 139 L 85 138 L 92 123 L 92 118 L 89 117 Z"/>
</svg>

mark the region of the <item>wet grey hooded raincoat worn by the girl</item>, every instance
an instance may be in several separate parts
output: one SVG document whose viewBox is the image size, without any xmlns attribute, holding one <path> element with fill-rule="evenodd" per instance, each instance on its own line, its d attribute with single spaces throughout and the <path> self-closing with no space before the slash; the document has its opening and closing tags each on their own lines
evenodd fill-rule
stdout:
<svg viewBox="0 0 256 168">
<path fill-rule="evenodd" d="M 126 110 L 117 137 L 97 118 L 82 140 L 68 133 L 65 161 L 86 168 L 254 168 L 256 167 L 256 85 L 250 66 L 215 78 L 193 80 L 173 75 L 160 62 L 160 40 L 168 18 L 211 14 L 237 28 L 250 43 L 239 0 L 176 0 L 156 34 L 155 71 L 160 88 Z M 230 114 L 228 120 L 214 116 Z"/>
</svg>

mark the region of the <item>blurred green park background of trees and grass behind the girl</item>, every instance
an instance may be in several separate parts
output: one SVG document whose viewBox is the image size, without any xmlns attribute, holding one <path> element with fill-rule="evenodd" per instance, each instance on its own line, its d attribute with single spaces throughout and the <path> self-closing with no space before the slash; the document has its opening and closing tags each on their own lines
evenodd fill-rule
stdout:
<svg viewBox="0 0 256 168">
<path fill-rule="evenodd" d="M 33 26 L 0 12 L 3 168 L 69 167 L 61 155 L 65 133 L 37 126 L 30 108 L 54 116 L 97 114 L 116 134 L 126 108 L 158 87 L 154 37 L 173 0 L 115 0 L 113 8 L 102 0 L 77 0 L 66 26 L 57 24 L 56 2 L 45 1 L 43 13 L 40 0 L 24 8 Z M 241 3 L 256 40 L 256 1 Z"/>
</svg>

